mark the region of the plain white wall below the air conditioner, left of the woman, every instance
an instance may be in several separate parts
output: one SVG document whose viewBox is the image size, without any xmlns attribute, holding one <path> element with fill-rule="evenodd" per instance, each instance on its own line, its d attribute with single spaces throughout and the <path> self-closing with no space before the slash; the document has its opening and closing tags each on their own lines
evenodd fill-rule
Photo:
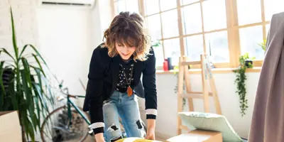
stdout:
<svg viewBox="0 0 284 142">
<path fill-rule="evenodd" d="M 52 72 L 72 94 L 84 95 L 92 55 L 92 10 L 74 6 L 37 9 L 41 52 Z"/>
</svg>

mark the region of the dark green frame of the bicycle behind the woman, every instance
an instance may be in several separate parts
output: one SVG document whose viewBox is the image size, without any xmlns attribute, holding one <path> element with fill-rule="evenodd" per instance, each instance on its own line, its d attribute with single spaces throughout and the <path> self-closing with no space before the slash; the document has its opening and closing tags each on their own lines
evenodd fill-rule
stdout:
<svg viewBox="0 0 284 142">
<path fill-rule="evenodd" d="M 77 97 L 84 98 L 84 96 L 77 96 Z M 72 119 L 72 116 L 71 116 L 71 106 L 74 107 L 77 112 L 79 112 L 79 114 L 83 117 L 84 121 L 86 121 L 88 125 L 91 124 L 91 122 L 89 121 L 87 116 L 85 116 L 84 113 L 79 109 L 79 107 L 77 107 L 77 105 L 74 102 L 72 102 L 70 97 L 67 96 L 67 111 L 68 111 L 68 118 L 70 120 L 69 123 L 71 123 L 71 119 Z"/>
</svg>

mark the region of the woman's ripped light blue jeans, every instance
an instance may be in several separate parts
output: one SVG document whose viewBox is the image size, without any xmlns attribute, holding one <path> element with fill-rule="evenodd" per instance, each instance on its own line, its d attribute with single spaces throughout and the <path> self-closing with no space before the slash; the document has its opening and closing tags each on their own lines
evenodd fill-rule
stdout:
<svg viewBox="0 0 284 142">
<path fill-rule="evenodd" d="M 116 141 L 122 137 L 119 116 L 127 137 L 142 138 L 144 135 L 141 124 L 138 100 L 133 94 L 114 91 L 109 99 L 104 101 L 104 138 L 106 142 Z"/>
</svg>

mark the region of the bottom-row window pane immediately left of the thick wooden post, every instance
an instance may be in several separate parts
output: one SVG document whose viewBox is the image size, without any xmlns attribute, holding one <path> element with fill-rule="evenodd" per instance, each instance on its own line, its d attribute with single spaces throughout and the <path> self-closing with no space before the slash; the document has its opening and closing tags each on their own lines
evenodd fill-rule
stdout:
<svg viewBox="0 0 284 142">
<path fill-rule="evenodd" d="M 206 52 L 211 55 L 212 62 L 229 62 L 229 47 L 227 31 L 208 33 L 205 35 Z"/>
</svg>

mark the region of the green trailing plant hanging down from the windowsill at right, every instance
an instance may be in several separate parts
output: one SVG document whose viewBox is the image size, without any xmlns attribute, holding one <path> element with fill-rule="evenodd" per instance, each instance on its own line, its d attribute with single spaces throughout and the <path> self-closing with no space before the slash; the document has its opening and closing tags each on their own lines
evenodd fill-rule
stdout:
<svg viewBox="0 0 284 142">
<path fill-rule="evenodd" d="M 246 99 L 246 69 L 253 67 L 253 60 L 254 58 L 249 58 L 249 53 L 245 53 L 239 57 L 239 67 L 238 69 L 234 70 L 236 73 L 236 93 L 239 94 L 239 102 L 240 102 L 240 109 L 241 109 L 241 116 L 244 116 L 246 113 L 246 109 L 248 106 L 248 99 Z"/>
</svg>

